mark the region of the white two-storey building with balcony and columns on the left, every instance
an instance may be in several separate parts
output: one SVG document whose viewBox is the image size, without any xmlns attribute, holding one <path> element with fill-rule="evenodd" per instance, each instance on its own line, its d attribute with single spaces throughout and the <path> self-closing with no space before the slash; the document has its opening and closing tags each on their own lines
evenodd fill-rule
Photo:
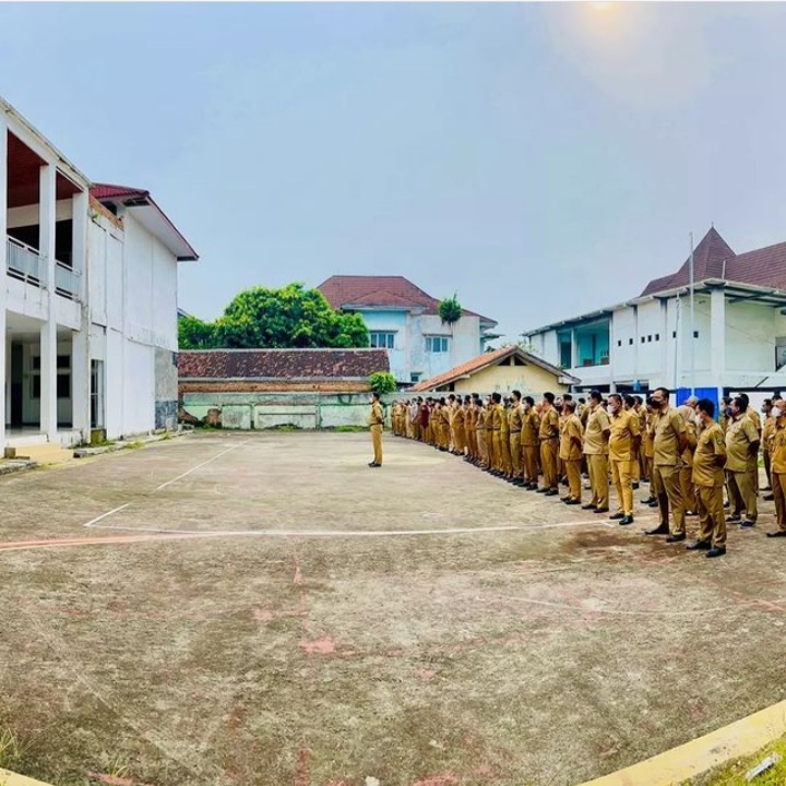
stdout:
<svg viewBox="0 0 786 786">
<path fill-rule="evenodd" d="M 195 259 L 147 192 L 92 183 L 0 99 L 0 455 L 175 425 Z"/>
</svg>

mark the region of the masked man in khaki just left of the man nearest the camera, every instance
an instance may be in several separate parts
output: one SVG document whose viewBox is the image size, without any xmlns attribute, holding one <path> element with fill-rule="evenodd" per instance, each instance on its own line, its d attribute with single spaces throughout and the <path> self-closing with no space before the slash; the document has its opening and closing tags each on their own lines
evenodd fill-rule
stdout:
<svg viewBox="0 0 786 786">
<path fill-rule="evenodd" d="M 656 388 L 650 396 L 655 412 L 653 443 L 653 490 L 658 501 L 660 523 L 647 535 L 667 535 L 666 543 L 686 539 L 684 500 L 679 481 L 680 455 L 688 446 L 684 420 L 669 406 L 669 392 Z M 669 508 L 671 521 L 669 522 Z"/>
</svg>

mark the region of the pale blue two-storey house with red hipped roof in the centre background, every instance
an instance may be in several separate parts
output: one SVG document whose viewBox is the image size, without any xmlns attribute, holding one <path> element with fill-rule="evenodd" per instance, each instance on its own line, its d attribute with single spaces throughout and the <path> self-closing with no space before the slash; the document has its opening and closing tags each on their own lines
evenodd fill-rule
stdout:
<svg viewBox="0 0 786 786">
<path fill-rule="evenodd" d="M 334 309 L 362 317 L 371 346 L 388 350 L 402 386 L 471 360 L 496 337 L 497 322 L 467 309 L 457 321 L 444 322 L 440 301 L 404 276 L 334 275 L 318 289 Z"/>
</svg>

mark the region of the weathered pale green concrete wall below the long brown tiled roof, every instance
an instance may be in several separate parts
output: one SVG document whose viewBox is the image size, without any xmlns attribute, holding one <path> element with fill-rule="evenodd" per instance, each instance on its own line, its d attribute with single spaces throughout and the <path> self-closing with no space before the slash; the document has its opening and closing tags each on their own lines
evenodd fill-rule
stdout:
<svg viewBox="0 0 786 786">
<path fill-rule="evenodd" d="M 237 429 L 366 426 L 370 412 L 368 393 L 183 393 L 182 406 L 198 418 L 221 409 L 224 428 Z"/>
</svg>

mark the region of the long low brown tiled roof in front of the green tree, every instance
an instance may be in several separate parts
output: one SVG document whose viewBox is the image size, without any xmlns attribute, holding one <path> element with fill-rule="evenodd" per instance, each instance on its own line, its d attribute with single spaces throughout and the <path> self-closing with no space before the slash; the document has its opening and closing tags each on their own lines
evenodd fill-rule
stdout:
<svg viewBox="0 0 786 786">
<path fill-rule="evenodd" d="M 178 358 L 186 379 L 358 379 L 390 371 L 385 349 L 188 349 Z"/>
</svg>

